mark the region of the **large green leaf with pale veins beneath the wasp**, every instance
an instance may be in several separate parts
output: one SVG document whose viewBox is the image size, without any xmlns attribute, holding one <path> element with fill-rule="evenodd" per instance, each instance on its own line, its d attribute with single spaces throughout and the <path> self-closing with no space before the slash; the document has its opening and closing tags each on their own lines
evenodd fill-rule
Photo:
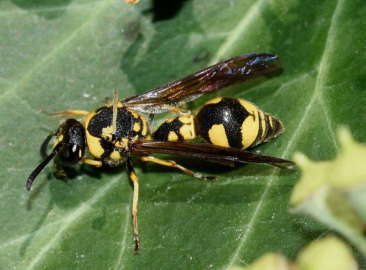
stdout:
<svg viewBox="0 0 366 270">
<path fill-rule="evenodd" d="M 140 256 L 133 255 L 132 185 L 124 166 L 82 166 L 62 181 L 49 165 L 26 191 L 27 177 L 41 162 L 40 145 L 60 121 L 40 110 L 92 111 L 113 88 L 128 97 L 249 52 L 279 55 L 283 73 L 204 95 L 186 108 L 217 95 L 254 102 L 286 127 L 253 150 L 262 154 L 335 157 L 340 124 L 366 142 L 363 1 L 157 2 L 0 1 L 4 269 L 227 269 L 248 266 L 267 251 L 293 259 L 329 232 L 288 213 L 297 168 L 233 169 L 168 157 L 217 175 L 212 183 L 133 159 Z M 170 116 L 158 115 L 156 124 Z"/>
</svg>

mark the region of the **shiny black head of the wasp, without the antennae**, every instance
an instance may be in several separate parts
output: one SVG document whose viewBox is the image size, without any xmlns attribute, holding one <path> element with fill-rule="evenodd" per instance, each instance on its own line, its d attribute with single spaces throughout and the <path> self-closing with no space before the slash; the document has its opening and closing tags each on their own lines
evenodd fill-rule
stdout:
<svg viewBox="0 0 366 270">
<path fill-rule="evenodd" d="M 85 130 L 76 119 L 67 119 L 60 125 L 58 134 L 62 146 L 57 154 L 58 160 L 65 166 L 74 166 L 84 157 Z"/>
</svg>

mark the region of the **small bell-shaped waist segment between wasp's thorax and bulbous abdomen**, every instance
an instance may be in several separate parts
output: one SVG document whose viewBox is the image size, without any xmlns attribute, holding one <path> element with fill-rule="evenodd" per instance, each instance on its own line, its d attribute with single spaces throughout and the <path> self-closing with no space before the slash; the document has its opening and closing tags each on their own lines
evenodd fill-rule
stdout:
<svg viewBox="0 0 366 270">
<path fill-rule="evenodd" d="M 156 140 L 170 140 L 182 142 L 195 138 L 193 116 L 180 116 L 165 121 L 154 132 L 152 137 Z"/>
</svg>

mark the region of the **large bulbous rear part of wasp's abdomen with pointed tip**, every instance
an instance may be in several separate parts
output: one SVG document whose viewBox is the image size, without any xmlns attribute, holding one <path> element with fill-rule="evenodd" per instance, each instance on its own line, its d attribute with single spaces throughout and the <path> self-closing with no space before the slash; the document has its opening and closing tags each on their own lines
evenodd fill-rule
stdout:
<svg viewBox="0 0 366 270">
<path fill-rule="evenodd" d="M 197 134 L 214 145 L 247 149 L 282 133 L 282 123 L 245 100 L 214 98 L 195 117 Z"/>
</svg>

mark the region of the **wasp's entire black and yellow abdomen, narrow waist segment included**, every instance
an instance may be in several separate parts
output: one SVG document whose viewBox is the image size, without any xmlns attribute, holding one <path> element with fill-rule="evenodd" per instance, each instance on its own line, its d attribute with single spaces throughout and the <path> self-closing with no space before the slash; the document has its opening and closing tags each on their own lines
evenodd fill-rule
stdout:
<svg viewBox="0 0 366 270">
<path fill-rule="evenodd" d="M 213 145 L 247 149 L 266 142 L 284 131 L 276 117 L 254 104 L 235 98 L 214 98 L 196 116 L 180 116 L 165 121 L 154 139 L 183 141 L 196 135 Z"/>
</svg>

